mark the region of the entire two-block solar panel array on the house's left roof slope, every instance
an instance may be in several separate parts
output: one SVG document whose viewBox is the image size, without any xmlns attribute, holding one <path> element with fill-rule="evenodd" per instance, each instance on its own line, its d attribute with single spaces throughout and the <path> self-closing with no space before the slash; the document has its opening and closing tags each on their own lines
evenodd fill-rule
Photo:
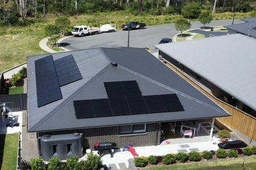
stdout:
<svg viewBox="0 0 256 170">
<path fill-rule="evenodd" d="M 53 61 L 52 55 L 35 61 L 38 107 L 62 99 L 60 86 L 82 79 L 72 55 Z"/>
</svg>

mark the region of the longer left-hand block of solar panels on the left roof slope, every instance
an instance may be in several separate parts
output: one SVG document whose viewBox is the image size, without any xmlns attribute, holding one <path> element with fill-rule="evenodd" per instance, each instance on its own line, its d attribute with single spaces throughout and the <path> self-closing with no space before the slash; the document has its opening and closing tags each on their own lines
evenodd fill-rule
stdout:
<svg viewBox="0 0 256 170">
<path fill-rule="evenodd" d="M 38 107 L 62 99 L 52 55 L 35 61 Z"/>
</svg>

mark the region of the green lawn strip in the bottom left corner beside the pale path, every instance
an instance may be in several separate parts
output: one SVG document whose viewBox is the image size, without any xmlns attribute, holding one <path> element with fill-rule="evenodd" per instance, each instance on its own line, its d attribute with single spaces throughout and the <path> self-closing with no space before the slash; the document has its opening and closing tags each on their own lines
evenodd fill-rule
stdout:
<svg viewBox="0 0 256 170">
<path fill-rule="evenodd" d="M 15 170 L 19 134 L 0 135 L 0 169 Z"/>
</svg>

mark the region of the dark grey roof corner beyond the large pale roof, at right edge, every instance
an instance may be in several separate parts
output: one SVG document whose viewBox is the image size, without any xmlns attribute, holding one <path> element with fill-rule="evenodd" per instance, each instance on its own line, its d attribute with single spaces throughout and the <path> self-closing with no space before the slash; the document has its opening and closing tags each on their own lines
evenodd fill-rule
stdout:
<svg viewBox="0 0 256 170">
<path fill-rule="evenodd" d="M 226 25 L 225 28 L 232 29 L 237 31 L 238 33 L 242 33 L 243 35 L 249 35 L 251 37 L 256 37 L 256 22 L 247 22 L 241 24 L 234 24 L 234 25 Z"/>
</svg>

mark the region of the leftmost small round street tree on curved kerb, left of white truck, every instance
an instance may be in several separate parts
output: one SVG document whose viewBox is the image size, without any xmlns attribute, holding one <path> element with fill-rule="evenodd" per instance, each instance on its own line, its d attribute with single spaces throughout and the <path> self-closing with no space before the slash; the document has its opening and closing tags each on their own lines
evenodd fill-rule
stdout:
<svg viewBox="0 0 256 170">
<path fill-rule="evenodd" d="M 47 37 L 49 37 L 49 42 L 51 45 L 57 44 L 57 37 L 60 36 L 60 29 L 56 25 L 48 24 L 46 27 L 44 27 L 44 33 Z"/>
</svg>

